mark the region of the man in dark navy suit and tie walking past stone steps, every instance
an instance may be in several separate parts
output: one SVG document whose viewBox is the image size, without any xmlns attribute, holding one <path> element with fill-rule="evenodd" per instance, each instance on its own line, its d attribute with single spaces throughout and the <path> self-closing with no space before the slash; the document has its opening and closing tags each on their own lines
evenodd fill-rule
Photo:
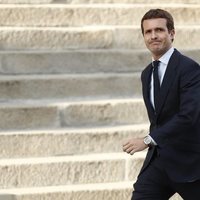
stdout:
<svg viewBox="0 0 200 200">
<path fill-rule="evenodd" d="M 148 148 L 132 200 L 167 200 L 176 192 L 200 200 L 200 66 L 172 47 L 169 12 L 149 10 L 141 28 L 152 54 L 141 76 L 150 130 L 123 144 L 131 155 Z"/>
</svg>

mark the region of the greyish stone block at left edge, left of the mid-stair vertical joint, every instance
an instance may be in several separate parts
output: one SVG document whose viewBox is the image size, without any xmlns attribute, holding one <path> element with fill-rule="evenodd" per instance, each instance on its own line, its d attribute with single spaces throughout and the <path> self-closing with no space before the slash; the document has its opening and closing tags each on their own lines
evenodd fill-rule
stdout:
<svg viewBox="0 0 200 200">
<path fill-rule="evenodd" d="M 59 125 L 56 107 L 1 105 L 0 116 L 1 130 L 55 128 Z"/>
</svg>

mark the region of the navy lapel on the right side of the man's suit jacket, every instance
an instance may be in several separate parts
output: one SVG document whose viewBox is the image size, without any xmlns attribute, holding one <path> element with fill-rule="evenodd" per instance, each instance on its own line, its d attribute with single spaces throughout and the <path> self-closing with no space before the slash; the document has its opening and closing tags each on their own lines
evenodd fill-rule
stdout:
<svg viewBox="0 0 200 200">
<path fill-rule="evenodd" d="M 163 78 L 163 82 L 161 85 L 161 91 L 160 91 L 160 98 L 159 98 L 159 106 L 158 106 L 158 114 L 161 112 L 162 107 L 165 103 L 166 97 L 169 93 L 171 84 L 175 78 L 175 69 L 179 63 L 179 56 L 180 53 L 175 49 L 174 53 L 172 54 L 164 78 Z"/>
</svg>

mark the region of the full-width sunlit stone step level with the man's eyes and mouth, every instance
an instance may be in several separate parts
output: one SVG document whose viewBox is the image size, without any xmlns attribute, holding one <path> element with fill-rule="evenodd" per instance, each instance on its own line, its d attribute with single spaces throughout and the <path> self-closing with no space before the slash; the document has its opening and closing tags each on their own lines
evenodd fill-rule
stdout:
<svg viewBox="0 0 200 200">
<path fill-rule="evenodd" d="M 200 26 L 177 26 L 174 45 L 199 49 Z M 1 27 L 2 50 L 145 49 L 138 26 L 74 28 Z"/>
</svg>

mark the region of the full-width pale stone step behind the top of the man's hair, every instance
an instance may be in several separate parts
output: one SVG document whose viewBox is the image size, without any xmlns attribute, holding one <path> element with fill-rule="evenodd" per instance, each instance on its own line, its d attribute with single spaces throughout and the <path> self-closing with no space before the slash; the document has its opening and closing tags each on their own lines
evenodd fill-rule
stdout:
<svg viewBox="0 0 200 200">
<path fill-rule="evenodd" d="M 200 4 L 0 5 L 0 26 L 140 25 L 147 10 L 168 10 L 176 24 L 200 24 Z"/>
</svg>

